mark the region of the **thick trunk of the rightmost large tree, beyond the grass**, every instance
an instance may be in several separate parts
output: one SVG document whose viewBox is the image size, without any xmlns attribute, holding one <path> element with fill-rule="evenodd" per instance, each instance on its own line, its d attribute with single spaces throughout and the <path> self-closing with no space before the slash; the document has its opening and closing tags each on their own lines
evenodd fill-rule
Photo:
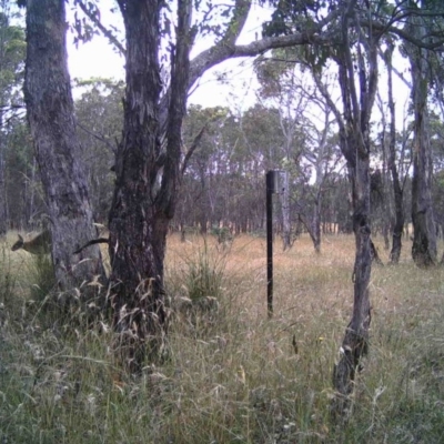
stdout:
<svg viewBox="0 0 444 444">
<path fill-rule="evenodd" d="M 412 16 L 407 27 L 412 36 L 420 40 L 424 33 L 421 17 Z M 427 138 L 427 93 L 428 58 L 427 50 L 405 44 L 412 72 L 412 101 L 414 111 L 413 178 L 412 178 L 412 258 L 417 266 L 436 263 L 436 232 L 432 206 L 432 155 Z"/>
</svg>

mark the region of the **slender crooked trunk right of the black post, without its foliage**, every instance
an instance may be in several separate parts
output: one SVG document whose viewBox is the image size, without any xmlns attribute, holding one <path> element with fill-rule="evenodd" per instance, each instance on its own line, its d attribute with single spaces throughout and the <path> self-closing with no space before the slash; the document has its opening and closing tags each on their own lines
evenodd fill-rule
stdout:
<svg viewBox="0 0 444 444">
<path fill-rule="evenodd" d="M 344 418 L 350 407 L 355 373 L 361 359 L 367 353 L 371 323 L 369 283 L 372 270 L 372 241 L 370 224 L 370 118 L 377 84 L 376 36 L 357 41 L 355 61 L 352 60 L 349 30 L 353 26 L 351 13 L 354 2 L 347 4 L 342 22 L 343 46 L 339 51 L 339 80 L 343 103 L 343 118 L 333 105 L 340 123 L 340 143 L 352 183 L 353 231 L 355 235 L 353 314 L 345 331 L 341 357 L 334 367 L 333 384 L 337 393 L 332 411 Z M 365 54 L 363 53 L 365 51 Z M 357 65 L 359 92 L 355 84 Z M 331 102 L 331 99 L 330 99 Z M 333 104 L 333 103 L 332 103 Z M 346 416 L 345 416 L 346 417 Z"/>
</svg>

